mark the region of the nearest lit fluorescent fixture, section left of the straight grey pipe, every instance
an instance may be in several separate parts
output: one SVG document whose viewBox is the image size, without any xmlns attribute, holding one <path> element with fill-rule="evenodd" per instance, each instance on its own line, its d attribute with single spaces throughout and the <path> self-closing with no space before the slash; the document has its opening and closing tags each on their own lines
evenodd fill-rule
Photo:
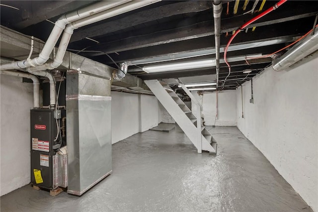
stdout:
<svg viewBox="0 0 318 212">
<path fill-rule="evenodd" d="M 190 61 L 183 63 L 172 63 L 166 65 L 158 65 L 158 66 L 146 66 L 143 67 L 143 71 L 147 73 L 154 72 L 166 72 L 166 71 L 177 71 L 177 70 L 185 70 L 185 69 L 195 69 L 195 68 L 206 68 L 216 66 L 215 59 L 208 60 L 198 60 L 198 61 Z"/>
</svg>

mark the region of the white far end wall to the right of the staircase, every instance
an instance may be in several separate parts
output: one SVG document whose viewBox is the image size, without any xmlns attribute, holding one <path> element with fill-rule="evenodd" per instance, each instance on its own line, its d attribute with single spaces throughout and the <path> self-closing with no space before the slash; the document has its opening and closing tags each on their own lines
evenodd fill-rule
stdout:
<svg viewBox="0 0 318 212">
<path fill-rule="evenodd" d="M 192 91 L 194 97 L 203 106 L 203 117 L 207 126 L 236 126 L 236 91 L 223 91 L 221 93 L 206 93 L 201 96 Z M 218 95 L 218 117 L 216 119 L 216 103 Z M 192 111 L 196 113 L 196 106 L 192 103 Z"/>
</svg>

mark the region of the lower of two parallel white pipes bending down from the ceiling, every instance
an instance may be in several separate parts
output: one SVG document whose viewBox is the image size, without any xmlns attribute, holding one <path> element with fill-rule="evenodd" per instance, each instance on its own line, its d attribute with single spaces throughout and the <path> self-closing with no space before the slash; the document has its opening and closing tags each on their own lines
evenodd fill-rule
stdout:
<svg viewBox="0 0 318 212">
<path fill-rule="evenodd" d="M 115 7 L 112 7 L 110 9 L 106 9 L 102 12 L 96 13 L 94 15 L 79 19 L 77 21 L 74 21 L 70 24 L 68 24 L 64 30 L 64 33 L 62 35 L 61 38 L 61 42 L 58 48 L 58 52 L 54 58 L 54 61 L 50 64 L 44 64 L 42 66 L 37 66 L 37 67 L 31 67 L 29 70 L 32 71 L 38 71 L 38 70 L 52 70 L 55 69 L 57 67 L 59 67 L 62 62 L 63 62 L 63 58 L 65 55 L 65 52 L 67 50 L 68 44 L 70 42 L 71 36 L 73 34 L 73 31 L 79 27 L 100 21 L 100 20 L 104 20 L 106 18 L 109 17 L 113 17 L 149 4 L 152 4 L 154 2 L 157 2 L 159 0 L 146 0 L 146 1 L 124 1 L 122 2 L 120 5 L 117 5 Z M 73 16 L 72 16 L 73 17 Z M 127 73 L 127 72 L 126 72 Z M 123 77 L 121 77 L 120 79 L 122 79 Z"/>
</svg>

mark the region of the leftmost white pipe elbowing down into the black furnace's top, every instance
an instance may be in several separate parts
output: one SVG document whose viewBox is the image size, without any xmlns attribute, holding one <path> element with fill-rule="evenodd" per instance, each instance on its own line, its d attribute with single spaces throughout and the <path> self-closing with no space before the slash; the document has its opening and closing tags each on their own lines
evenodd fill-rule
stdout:
<svg viewBox="0 0 318 212">
<path fill-rule="evenodd" d="M 36 76 L 25 72 L 9 70 L 3 70 L 1 74 L 31 79 L 33 81 L 33 106 L 34 108 L 40 107 L 40 82 Z"/>
</svg>

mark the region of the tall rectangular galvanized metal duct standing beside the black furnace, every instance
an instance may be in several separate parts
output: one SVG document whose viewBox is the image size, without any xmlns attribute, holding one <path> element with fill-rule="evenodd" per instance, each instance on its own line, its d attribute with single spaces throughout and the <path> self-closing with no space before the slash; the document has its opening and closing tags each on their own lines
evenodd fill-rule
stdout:
<svg viewBox="0 0 318 212">
<path fill-rule="evenodd" d="M 66 96 L 68 193 L 82 195 L 112 171 L 110 89 L 113 70 L 105 65 L 80 67 L 85 63 L 72 62 L 75 63 L 70 64 L 72 68 L 67 72 Z"/>
</svg>

